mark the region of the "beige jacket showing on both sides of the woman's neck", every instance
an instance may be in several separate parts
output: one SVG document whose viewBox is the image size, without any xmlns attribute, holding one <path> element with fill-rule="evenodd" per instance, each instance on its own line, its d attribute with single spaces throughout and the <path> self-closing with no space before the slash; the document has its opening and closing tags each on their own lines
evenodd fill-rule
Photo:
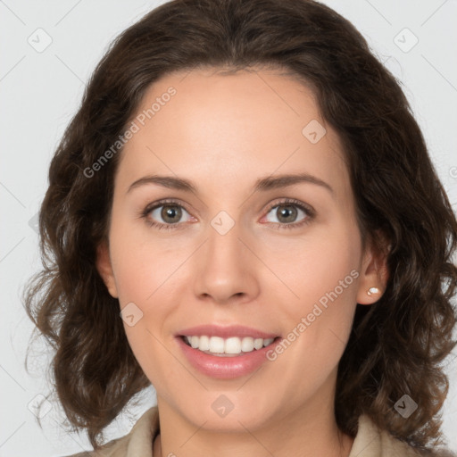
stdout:
<svg viewBox="0 0 457 457">
<path fill-rule="evenodd" d="M 159 433 L 157 406 L 145 411 L 129 434 L 114 439 L 97 453 L 77 453 L 67 457 L 153 457 L 153 439 Z M 361 415 L 359 430 L 349 457 L 417 457 L 414 449 L 395 439 L 384 430 L 379 430 L 370 418 Z M 436 452 L 437 457 L 457 457 L 446 451 Z"/>
</svg>

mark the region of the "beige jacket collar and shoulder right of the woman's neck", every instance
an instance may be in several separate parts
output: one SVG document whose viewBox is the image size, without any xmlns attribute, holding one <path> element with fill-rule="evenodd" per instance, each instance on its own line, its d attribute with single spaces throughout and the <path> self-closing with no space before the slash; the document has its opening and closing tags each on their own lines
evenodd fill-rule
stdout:
<svg viewBox="0 0 457 457">
<path fill-rule="evenodd" d="M 411 445 L 400 441 L 386 430 L 379 429 L 366 414 L 359 417 L 359 429 L 349 457 L 457 457 L 449 450 L 436 450 L 433 453 L 420 453 Z"/>
</svg>

